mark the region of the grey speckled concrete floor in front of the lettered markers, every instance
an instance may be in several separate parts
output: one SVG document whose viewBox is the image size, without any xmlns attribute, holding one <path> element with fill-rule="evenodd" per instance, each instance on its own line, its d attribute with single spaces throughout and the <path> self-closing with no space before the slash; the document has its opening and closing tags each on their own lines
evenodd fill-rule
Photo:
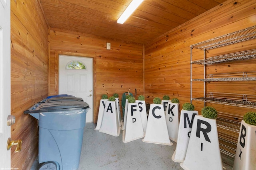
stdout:
<svg viewBox="0 0 256 170">
<path fill-rule="evenodd" d="M 142 139 L 123 143 L 122 130 L 114 137 L 95 131 L 95 127 L 86 124 L 79 170 L 182 170 L 180 163 L 171 159 L 176 149 L 173 141 L 172 146 L 144 143 Z M 233 161 L 222 155 L 226 170 L 232 170 Z M 36 159 L 31 170 L 38 166 Z"/>
</svg>

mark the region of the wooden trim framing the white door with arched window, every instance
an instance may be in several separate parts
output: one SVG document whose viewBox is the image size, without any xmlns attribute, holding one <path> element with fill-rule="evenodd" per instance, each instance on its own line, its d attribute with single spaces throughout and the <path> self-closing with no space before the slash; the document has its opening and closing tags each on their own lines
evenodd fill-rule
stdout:
<svg viewBox="0 0 256 170">
<path fill-rule="evenodd" d="M 93 86 L 93 123 L 96 123 L 95 113 L 97 112 L 96 108 L 96 58 L 91 56 L 86 56 L 83 53 L 73 53 L 67 51 L 55 51 L 54 57 L 54 73 L 55 73 L 55 94 L 59 93 L 59 55 L 70 55 L 74 57 L 86 57 L 92 58 L 92 86 Z M 50 60 L 49 60 L 50 66 Z M 50 88 L 50 81 L 49 81 L 49 88 Z"/>
</svg>

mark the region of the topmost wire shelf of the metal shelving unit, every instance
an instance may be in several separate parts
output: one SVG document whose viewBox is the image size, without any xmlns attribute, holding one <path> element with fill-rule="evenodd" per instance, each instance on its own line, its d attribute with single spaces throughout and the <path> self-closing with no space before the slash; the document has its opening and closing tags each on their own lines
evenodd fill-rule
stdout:
<svg viewBox="0 0 256 170">
<path fill-rule="evenodd" d="M 193 44 L 191 47 L 201 50 L 208 50 L 254 38 L 256 38 L 256 25 Z"/>
</svg>

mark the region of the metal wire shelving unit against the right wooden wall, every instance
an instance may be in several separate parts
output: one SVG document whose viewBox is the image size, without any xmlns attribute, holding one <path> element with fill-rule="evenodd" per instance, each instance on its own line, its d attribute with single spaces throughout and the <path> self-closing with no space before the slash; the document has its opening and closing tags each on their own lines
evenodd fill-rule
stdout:
<svg viewBox="0 0 256 170">
<path fill-rule="evenodd" d="M 226 35 L 215 37 L 200 43 L 196 43 L 190 46 L 190 102 L 192 101 L 202 101 L 204 106 L 206 102 L 223 104 L 228 106 L 238 106 L 247 108 L 256 108 L 256 95 L 248 94 L 228 94 L 228 93 L 216 93 L 207 92 L 206 93 L 206 82 L 228 82 L 228 81 L 256 81 L 256 71 L 253 72 L 231 72 L 224 74 L 208 74 L 206 75 L 206 66 L 219 63 L 228 63 L 233 61 L 244 61 L 256 59 L 256 49 L 250 49 L 246 51 L 240 51 L 236 53 L 228 53 L 224 55 L 218 55 L 214 57 L 206 57 L 206 51 L 210 49 L 216 49 L 219 47 L 224 47 L 226 45 L 232 45 L 234 43 L 240 43 L 250 39 L 256 38 L 256 25 L 248 27 L 246 29 L 241 29 Z M 200 49 L 204 51 L 204 58 L 201 60 L 192 60 L 193 49 Z M 192 65 L 200 64 L 204 66 L 204 78 L 192 79 Z M 193 82 L 203 82 L 204 83 L 204 96 L 200 98 L 192 97 L 192 83 Z M 219 111 L 218 111 L 219 113 Z M 238 140 L 238 135 L 240 131 L 240 123 L 242 118 L 238 115 L 228 115 L 228 113 L 220 114 L 224 115 L 216 118 L 218 127 L 218 137 L 220 144 L 220 151 L 232 158 L 236 154 L 236 145 Z M 231 120 L 235 119 L 235 120 Z M 226 135 L 224 132 L 229 131 L 230 136 Z"/>
</svg>

